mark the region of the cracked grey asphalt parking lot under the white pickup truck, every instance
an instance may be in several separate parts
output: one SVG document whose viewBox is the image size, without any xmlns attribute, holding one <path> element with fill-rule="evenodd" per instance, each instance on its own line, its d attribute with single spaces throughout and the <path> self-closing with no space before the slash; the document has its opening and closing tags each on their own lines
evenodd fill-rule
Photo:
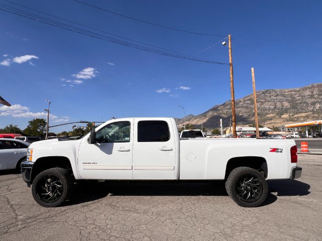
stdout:
<svg viewBox="0 0 322 241">
<path fill-rule="evenodd" d="M 297 180 L 270 181 L 243 208 L 223 183 L 92 183 L 62 207 L 36 204 L 21 174 L 0 172 L 0 240 L 322 240 L 322 158 L 299 155 Z"/>
</svg>

